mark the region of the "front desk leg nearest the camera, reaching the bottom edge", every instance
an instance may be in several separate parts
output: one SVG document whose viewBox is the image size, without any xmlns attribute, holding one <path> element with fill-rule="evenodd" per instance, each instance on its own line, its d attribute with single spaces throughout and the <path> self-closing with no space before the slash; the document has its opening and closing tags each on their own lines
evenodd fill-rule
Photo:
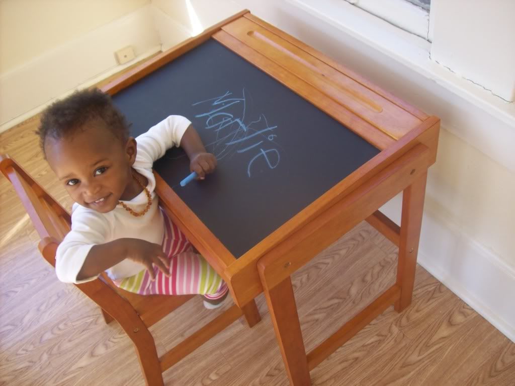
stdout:
<svg viewBox="0 0 515 386">
<path fill-rule="evenodd" d="M 290 384 L 292 386 L 311 385 L 291 279 L 288 276 L 272 289 L 263 287 Z"/>
</svg>

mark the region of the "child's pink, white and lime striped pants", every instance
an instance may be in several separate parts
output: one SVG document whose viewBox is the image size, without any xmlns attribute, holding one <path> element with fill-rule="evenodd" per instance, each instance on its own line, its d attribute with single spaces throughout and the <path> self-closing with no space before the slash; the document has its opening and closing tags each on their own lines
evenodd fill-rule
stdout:
<svg viewBox="0 0 515 386">
<path fill-rule="evenodd" d="M 189 295 L 200 294 L 208 299 L 218 299 L 227 291 L 227 284 L 205 259 L 193 251 L 193 245 L 184 233 L 164 217 L 163 251 L 170 259 L 170 276 L 154 266 L 156 280 L 152 281 L 147 270 L 131 277 L 114 280 L 119 288 L 140 295 Z"/>
</svg>

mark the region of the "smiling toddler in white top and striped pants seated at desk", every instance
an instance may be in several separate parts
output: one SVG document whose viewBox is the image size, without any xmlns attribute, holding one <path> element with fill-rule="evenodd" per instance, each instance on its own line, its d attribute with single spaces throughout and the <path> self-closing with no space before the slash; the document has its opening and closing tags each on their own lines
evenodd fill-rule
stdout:
<svg viewBox="0 0 515 386">
<path fill-rule="evenodd" d="M 72 230 L 57 249 L 59 280 L 82 283 L 106 271 L 116 286 L 142 295 L 201 294 L 216 308 L 227 284 L 158 207 L 152 164 L 181 146 L 203 179 L 216 159 L 183 116 L 170 115 L 138 138 L 98 89 L 75 92 L 43 113 L 38 134 L 46 160 L 74 199 Z"/>
</svg>

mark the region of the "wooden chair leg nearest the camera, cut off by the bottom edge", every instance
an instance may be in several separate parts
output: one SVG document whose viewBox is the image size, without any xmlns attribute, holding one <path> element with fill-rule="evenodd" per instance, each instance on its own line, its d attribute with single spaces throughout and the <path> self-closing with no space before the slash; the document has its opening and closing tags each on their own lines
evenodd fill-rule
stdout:
<svg viewBox="0 0 515 386">
<path fill-rule="evenodd" d="M 127 331 L 127 330 L 126 330 Z M 128 332 L 128 331 L 127 331 Z M 128 332 L 140 360 L 141 371 L 147 386 L 164 386 L 161 362 L 152 334 L 146 327 Z"/>
</svg>

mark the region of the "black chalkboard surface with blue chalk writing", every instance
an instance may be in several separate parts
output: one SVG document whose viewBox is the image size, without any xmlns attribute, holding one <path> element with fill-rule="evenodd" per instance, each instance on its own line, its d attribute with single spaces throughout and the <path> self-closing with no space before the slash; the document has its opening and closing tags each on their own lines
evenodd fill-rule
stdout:
<svg viewBox="0 0 515 386">
<path fill-rule="evenodd" d="M 154 167 L 237 258 L 379 150 L 214 40 L 114 97 L 138 136 L 170 114 L 193 122 L 218 167 L 184 188 L 181 149 Z"/>
</svg>

